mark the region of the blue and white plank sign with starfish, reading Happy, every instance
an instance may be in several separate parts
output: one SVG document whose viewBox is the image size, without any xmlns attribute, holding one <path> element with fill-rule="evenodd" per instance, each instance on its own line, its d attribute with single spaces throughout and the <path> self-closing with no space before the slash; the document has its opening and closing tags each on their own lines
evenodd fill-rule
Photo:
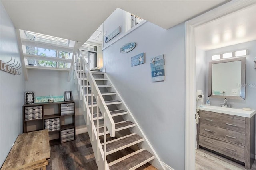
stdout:
<svg viewBox="0 0 256 170">
<path fill-rule="evenodd" d="M 164 55 L 151 58 L 151 81 L 160 82 L 164 81 Z"/>
</svg>

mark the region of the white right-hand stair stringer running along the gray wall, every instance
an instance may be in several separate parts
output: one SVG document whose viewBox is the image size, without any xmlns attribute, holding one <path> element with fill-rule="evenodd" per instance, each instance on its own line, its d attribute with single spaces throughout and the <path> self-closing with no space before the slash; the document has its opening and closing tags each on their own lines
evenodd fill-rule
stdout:
<svg viewBox="0 0 256 170">
<path fill-rule="evenodd" d="M 120 93 L 118 92 L 118 90 L 116 89 L 116 87 L 114 86 L 113 82 L 110 80 L 108 74 L 105 72 L 104 74 L 104 78 L 108 79 L 109 84 L 112 85 L 112 91 L 116 92 L 116 98 L 113 100 L 119 100 L 122 102 L 122 104 L 120 104 L 120 108 L 118 109 L 124 109 L 128 112 L 128 114 L 125 115 L 126 120 L 131 121 L 135 124 L 135 126 L 133 127 L 133 129 L 131 130 L 131 133 L 136 133 L 138 135 L 140 135 L 141 137 L 144 138 L 144 142 L 141 143 L 140 147 L 148 150 L 148 152 L 152 153 L 154 155 L 154 159 L 152 160 L 152 162 L 150 162 L 150 164 L 152 164 L 154 167 L 156 167 L 158 170 L 164 170 L 164 166 L 162 164 L 162 161 L 160 160 L 159 156 L 157 155 L 156 151 L 154 150 L 154 148 L 152 147 L 152 145 L 150 144 L 149 140 L 147 139 L 146 135 L 143 133 L 142 129 L 140 128 L 138 122 L 136 121 L 136 119 L 134 118 L 134 116 L 132 115 L 130 109 L 128 108 L 128 106 L 125 104 L 124 100 L 122 99 L 122 97 L 120 96 Z"/>
</svg>

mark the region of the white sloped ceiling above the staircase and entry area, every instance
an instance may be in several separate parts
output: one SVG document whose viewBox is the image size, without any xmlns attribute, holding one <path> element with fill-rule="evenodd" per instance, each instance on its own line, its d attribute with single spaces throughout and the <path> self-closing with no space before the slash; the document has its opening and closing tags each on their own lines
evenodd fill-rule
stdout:
<svg viewBox="0 0 256 170">
<path fill-rule="evenodd" d="M 1 0 L 16 29 L 85 42 L 121 8 L 164 29 L 228 0 Z"/>
</svg>

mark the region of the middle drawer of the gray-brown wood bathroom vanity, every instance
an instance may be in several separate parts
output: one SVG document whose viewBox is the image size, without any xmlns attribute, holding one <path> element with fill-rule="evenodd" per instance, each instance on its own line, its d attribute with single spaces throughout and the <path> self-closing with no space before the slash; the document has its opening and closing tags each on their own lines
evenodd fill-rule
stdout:
<svg viewBox="0 0 256 170">
<path fill-rule="evenodd" d="M 204 123 L 200 123 L 199 132 L 245 146 L 245 134 L 241 132 L 231 131 Z"/>
</svg>

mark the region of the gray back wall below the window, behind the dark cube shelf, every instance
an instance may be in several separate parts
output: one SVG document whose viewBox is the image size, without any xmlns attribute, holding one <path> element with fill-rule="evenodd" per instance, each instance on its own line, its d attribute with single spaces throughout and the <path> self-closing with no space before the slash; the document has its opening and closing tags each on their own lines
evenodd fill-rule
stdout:
<svg viewBox="0 0 256 170">
<path fill-rule="evenodd" d="M 28 70 L 26 91 L 35 92 L 35 96 L 62 96 L 65 91 L 72 91 L 76 105 L 76 129 L 86 127 L 73 77 L 68 82 L 68 71 Z"/>
</svg>

